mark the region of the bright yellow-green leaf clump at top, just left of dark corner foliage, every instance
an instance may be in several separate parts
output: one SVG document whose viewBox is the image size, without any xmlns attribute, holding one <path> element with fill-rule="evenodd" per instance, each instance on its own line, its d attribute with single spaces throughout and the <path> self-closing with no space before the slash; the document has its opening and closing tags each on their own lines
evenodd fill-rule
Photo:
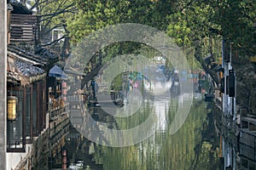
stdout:
<svg viewBox="0 0 256 170">
<path fill-rule="evenodd" d="M 214 11 L 210 5 L 192 3 L 168 16 L 167 34 L 174 37 L 179 46 L 195 45 L 201 38 L 214 36 L 211 29 L 219 29 L 212 22 L 212 14 Z"/>
</svg>

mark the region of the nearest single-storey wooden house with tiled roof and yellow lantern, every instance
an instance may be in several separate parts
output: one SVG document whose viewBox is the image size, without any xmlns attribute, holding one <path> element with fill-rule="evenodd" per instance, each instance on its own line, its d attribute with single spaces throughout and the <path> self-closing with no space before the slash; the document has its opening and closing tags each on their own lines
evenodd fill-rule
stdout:
<svg viewBox="0 0 256 170">
<path fill-rule="evenodd" d="M 42 62 L 10 50 L 7 61 L 7 151 L 25 152 L 46 127 L 46 71 Z"/>
</svg>

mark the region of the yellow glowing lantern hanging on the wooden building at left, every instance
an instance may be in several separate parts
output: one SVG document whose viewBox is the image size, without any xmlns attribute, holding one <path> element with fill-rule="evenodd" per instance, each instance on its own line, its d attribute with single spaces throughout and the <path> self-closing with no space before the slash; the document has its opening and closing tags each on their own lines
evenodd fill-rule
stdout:
<svg viewBox="0 0 256 170">
<path fill-rule="evenodd" d="M 15 96 L 8 96 L 7 100 L 8 100 L 7 119 L 9 121 L 15 121 L 17 98 Z"/>
</svg>

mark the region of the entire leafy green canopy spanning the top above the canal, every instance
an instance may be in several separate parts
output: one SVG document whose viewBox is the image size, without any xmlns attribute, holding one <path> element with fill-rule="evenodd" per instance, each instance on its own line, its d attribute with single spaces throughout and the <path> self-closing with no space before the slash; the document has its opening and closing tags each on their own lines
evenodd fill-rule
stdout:
<svg viewBox="0 0 256 170">
<path fill-rule="evenodd" d="M 133 22 L 166 31 L 183 48 L 191 67 L 198 67 L 197 61 L 201 62 L 207 54 L 213 54 L 215 59 L 221 57 L 223 37 L 234 42 L 233 50 L 238 50 L 238 54 L 256 54 L 253 0 L 76 0 L 75 3 L 79 12 L 67 20 L 73 44 L 105 26 Z M 109 60 L 124 51 L 134 53 L 139 48 L 144 47 L 114 44 L 108 47 L 104 58 Z"/>
</svg>

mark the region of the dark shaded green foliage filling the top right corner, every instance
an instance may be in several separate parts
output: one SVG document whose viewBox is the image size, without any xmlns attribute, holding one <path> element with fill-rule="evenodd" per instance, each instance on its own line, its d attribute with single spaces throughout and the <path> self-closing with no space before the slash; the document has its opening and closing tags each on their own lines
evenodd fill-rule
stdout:
<svg viewBox="0 0 256 170">
<path fill-rule="evenodd" d="M 221 35 L 240 54 L 255 55 L 256 3 L 254 0 L 214 1 L 215 22 L 221 27 Z"/>
</svg>

